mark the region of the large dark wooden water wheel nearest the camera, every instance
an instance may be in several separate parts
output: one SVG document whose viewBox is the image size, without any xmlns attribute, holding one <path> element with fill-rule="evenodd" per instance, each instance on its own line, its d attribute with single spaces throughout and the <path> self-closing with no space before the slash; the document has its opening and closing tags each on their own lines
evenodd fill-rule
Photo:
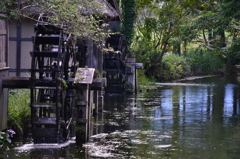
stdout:
<svg viewBox="0 0 240 159">
<path fill-rule="evenodd" d="M 61 143 L 74 118 L 74 46 L 53 25 L 36 24 L 31 52 L 31 123 L 34 143 Z"/>
</svg>

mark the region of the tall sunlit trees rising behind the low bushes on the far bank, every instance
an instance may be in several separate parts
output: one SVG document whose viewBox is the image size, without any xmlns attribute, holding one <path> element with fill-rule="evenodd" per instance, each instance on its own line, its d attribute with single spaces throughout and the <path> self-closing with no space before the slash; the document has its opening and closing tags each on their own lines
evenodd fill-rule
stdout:
<svg viewBox="0 0 240 159">
<path fill-rule="evenodd" d="M 231 55 L 229 39 L 232 35 L 238 39 L 236 32 L 229 36 L 234 29 L 230 24 L 235 22 L 236 29 L 237 20 L 230 20 L 235 18 L 227 16 L 232 12 L 226 7 L 236 7 L 238 3 L 236 0 L 137 0 L 137 34 L 133 47 L 138 60 L 144 63 L 145 73 L 155 76 L 165 67 L 162 63 L 165 54 L 180 55 L 188 44 L 195 44 L 196 50 L 206 50 L 226 62 Z M 236 7 L 234 13 L 238 9 Z M 237 57 L 235 55 L 233 57 Z"/>
</svg>

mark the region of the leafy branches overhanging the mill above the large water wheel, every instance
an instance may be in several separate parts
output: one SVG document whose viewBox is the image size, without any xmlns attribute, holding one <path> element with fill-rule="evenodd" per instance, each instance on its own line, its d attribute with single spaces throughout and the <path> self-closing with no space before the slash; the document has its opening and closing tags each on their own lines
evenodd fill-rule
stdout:
<svg viewBox="0 0 240 159">
<path fill-rule="evenodd" d="M 101 17 L 104 7 L 98 1 L 86 0 L 4 0 L 0 8 L 5 17 L 29 18 L 36 22 L 50 23 L 65 29 L 67 33 L 95 41 L 102 46 L 103 37 L 109 31 Z"/>
</svg>

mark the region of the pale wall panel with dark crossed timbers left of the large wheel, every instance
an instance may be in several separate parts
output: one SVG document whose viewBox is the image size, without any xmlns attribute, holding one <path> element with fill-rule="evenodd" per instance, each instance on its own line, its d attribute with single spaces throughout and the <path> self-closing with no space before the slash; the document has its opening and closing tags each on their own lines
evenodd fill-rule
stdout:
<svg viewBox="0 0 240 159">
<path fill-rule="evenodd" d="M 29 76 L 35 22 L 22 19 L 9 22 L 9 74 L 10 76 Z"/>
</svg>

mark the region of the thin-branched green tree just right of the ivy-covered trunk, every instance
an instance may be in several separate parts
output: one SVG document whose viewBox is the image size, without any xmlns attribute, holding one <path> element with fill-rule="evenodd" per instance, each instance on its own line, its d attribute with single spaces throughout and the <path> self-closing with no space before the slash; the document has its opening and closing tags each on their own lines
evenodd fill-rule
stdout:
<svg viewBox="0 0 240 159">
<path fill-rule="evenodd" d="M 152 72 L 152 75 L 161 67 L 162 58 L 167 52 L 172 51 L 173 47 L 179 50 L 183 42 L 187 43 L 193 38 L 193 33 L 185 36 L 187 31 L 189 33 L 187 26 L 191 27 L 188 25 L 190 9 L 184 5 L 185 1 L 137 2 L 137 33 L 133 47 L 146 72 Z"/>
</svg>

